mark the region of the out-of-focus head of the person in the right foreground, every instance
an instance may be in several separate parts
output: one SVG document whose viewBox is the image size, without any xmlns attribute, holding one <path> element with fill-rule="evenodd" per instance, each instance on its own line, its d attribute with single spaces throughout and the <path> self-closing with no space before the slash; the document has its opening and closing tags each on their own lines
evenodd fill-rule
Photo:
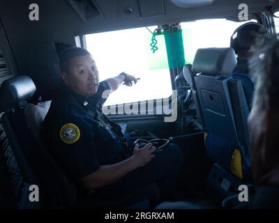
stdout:
<svg viewBox="0 0 279 223">
<path fill-rule="evenodd" d="M 257 50 L 250 63 L 255 95 L 248 118 L 257 185 L 279 185 L 279 42 Z"/>
</svg>

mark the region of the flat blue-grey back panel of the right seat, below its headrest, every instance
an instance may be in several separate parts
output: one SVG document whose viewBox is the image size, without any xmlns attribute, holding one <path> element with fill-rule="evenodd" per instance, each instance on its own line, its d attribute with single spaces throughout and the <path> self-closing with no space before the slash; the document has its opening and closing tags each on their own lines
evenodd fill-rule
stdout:
<svg viewBox="0 0 279 223">
<path fill-rule="evenodd" d="M 228 82 L 231 77 L 200 74 L 195 77 L 206 132 L 239 144 Z"/>
</svg>

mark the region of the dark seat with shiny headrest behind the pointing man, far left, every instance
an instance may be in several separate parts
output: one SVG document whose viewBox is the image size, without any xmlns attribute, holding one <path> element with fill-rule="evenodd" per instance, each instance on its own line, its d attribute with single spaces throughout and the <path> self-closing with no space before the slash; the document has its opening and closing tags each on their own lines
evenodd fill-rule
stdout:
<svg viewBox="0 0 279 223">
<path fill-rule="evenodd" d="M 24 181 L 29 185 L 38 185 L 39 201 L 29 200 L 29 193 L 19 208 L 64 208 L 70 205 L 69 185 L 66 176 L 56 166 L 39 140 L 38 134 L 41 120 L 29 116 L 27 100 L 35 93 L 36 86 L 28 76 L 8 79 L 1 85 L 0 107 L 5 112 L 1 118 L 10 146 L 19 165 Z M 9 98 L 9 100 L 7 100 Z M 38 110 L 37 110 L 38 111 Z M 34 110 L 34 114 L 35 114 Z M 31 113 L 30 113 L 31 114 Z M 29 118 L 27 118 L 29 117 Z M 29 121 L 28 121 L 29 120 Z M 30 128 L 30 120 L 34 120 L 37 129 Z M 75 190 L 71 190 L 75 192 Z M 74 193 L 75 194 L 75 193 Z"/>
</svg>

